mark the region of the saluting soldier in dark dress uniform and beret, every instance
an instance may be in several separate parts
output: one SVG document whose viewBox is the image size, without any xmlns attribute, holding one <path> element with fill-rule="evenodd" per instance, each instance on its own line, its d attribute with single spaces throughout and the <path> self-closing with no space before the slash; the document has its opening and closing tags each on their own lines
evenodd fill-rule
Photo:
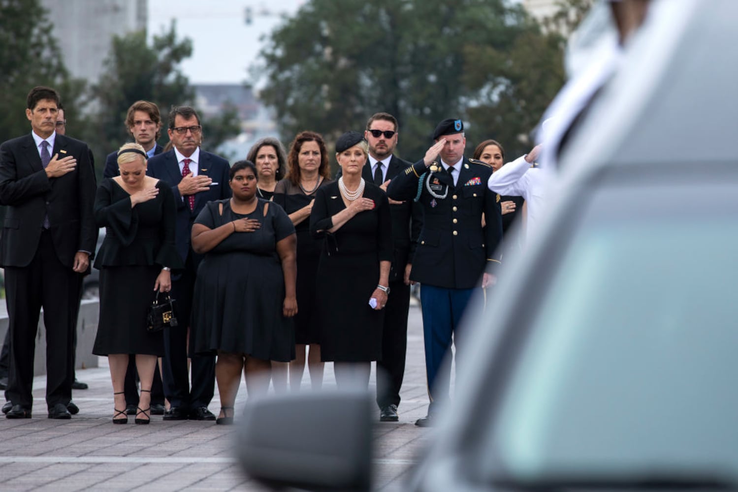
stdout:
<svg viewBox="0 0 738 492">
<path fill-rule="evenodd" d="M 430 406 L 416 426 L 433 424 L 441 400 L 449 398 L 450 366 L 439 378 L 475 288 L 492 282 L 485 272 L 503 235 L 499 195 L 486 187 L 492 167 L 463 156 L 466 138 L 461 119 L 444 119 L 433 132 L 435 145 L 390 182 L 393 200 L 415 200 L 424 211 L 410 279 L 422 284 L 421 305 L 425 367 Z M 440 160 L 436 160 L 439 156 Z M 482 215 L 486 227 L 482 226 Z"/>
</svg>

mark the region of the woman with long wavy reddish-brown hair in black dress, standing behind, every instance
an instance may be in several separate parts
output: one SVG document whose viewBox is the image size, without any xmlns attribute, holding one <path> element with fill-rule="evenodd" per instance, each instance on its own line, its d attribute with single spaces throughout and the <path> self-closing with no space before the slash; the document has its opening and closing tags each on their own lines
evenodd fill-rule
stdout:
<svg viewBox="0 0 738 492">
<path fill-rule="evenodd" d="M 300 389 L 308 348 L 308 370 L 313 389 L 323 386 L 323 362 L 320 361 L 320 330 L 315 311 L 315 279 L 323 240 L 310 235 L 310 211 L 315 193 L 331 182 L 331 168 L 323 137 L 303 131 L 290 145 L 287 176 L 277 183 L 272 200 L 289 214 L 297 230 L 297 304 L 294 317 L 295 358 L 289 364 L 289 387 Z"/>
</svg>

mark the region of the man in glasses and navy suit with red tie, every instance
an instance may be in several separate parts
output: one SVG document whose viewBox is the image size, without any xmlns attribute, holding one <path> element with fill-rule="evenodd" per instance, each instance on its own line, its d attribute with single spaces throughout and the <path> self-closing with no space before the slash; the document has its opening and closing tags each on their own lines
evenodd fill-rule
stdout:
<svg viewBox="0 0 738 492">
<path fill-rule="evenodd" d="M 173 149 L 149 159 L 146 171 L 149 176 L 172 185 L 177 204 L 176 246 L 185 265 L 182 274 L 172 278 L 179 326 L 165 328 L 164 333 L 162 378 L 171 405 L 164 420 L 215 420 L 215 415 L 207 409 L 215 391 L 215 356 L 193 356 L 191 390 L 187 372 L 187 325 L 201 259 L 192 250 L 190 232 L 193 221 L 208 201 L 230 198 L 230 165 L 222 157 L 200 149 L 202 126 L 193 108 L 172 109 L 168 134 Z"/>
</svg>

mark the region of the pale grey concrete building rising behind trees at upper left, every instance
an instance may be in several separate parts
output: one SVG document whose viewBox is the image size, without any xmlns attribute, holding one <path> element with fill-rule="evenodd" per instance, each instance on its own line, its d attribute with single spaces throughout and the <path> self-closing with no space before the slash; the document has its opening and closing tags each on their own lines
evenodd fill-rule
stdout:
<svg viewBox="0 0 738 492">
<path fill-rule="evenodd" d="M 148 0 L 41 0 L 72 77 L 96 83 L 113 35 L 145 30 Z"/>
</svg>

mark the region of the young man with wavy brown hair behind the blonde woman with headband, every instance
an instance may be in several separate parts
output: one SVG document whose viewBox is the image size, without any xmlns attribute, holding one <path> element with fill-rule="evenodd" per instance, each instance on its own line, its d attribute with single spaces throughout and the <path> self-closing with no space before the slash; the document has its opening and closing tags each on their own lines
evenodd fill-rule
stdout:
<svg viewBox="0 0 738 492">
<path fill-rule="evenodd" d="M 149 101 L 136 101 L 131 104 L 125 117 L 125 128 L 134 137 L 134 142 L 146 150 L 149 159 L 164 151 L 164 148 L 156 143 L 156 140 L 162 136 L 162 117 L 159 114 L 159 106 L 156 104 Z M 118 151 L 115 150 L 105 159 L 103 178 L 119 175 Z"/>
</svg>

